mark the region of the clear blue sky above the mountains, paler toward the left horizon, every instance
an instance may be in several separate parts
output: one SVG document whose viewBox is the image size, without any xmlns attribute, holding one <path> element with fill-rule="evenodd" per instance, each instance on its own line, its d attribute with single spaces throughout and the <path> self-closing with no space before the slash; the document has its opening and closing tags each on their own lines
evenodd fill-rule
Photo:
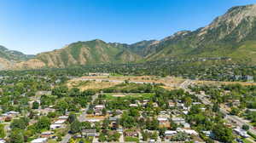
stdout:
<svg viewBox="0 0 256 143">
<path fill-rule="evenodd" d="M 38 54 L 93 39 L 160 40 L 251 3 L 256 0 L 0 0 L 0 45 Z"/>
</svg>

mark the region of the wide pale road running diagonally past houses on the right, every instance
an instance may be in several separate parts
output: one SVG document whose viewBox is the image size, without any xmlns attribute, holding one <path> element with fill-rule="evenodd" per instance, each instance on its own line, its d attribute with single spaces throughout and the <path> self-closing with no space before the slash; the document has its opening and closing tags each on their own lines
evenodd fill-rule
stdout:
<svg viewBox="0 0 256 143">
<path fill-rule="evenodd" d="M 194 92 L 191 92 L 190 89 L 188 89 L 188 86 L 191 84 L 193 84 L 193 81 L 186 80 L 183 83 L 181 83 L 180 88 L 189 92 L 189 94 L 195 94 Z M 207 100 L 205 94 L 195 94 L 195 95 L 202 101 L 203 104 L 213 106 L 212 102 L 210 100 Z M 229 115 L 229 112 L 227 112 L 224 108 L 220 108 L 219 111 L 225 115 L 226 119 L 236 123 L 240 128 L 244 124 L 248 125 L 250 127 L 249 131 L 253 134 L 256 134 L 256 130 L 253 129 L 253 126 L 250 125 L 249 123 L 245 122 L 241 117 Z"/>
</svg>

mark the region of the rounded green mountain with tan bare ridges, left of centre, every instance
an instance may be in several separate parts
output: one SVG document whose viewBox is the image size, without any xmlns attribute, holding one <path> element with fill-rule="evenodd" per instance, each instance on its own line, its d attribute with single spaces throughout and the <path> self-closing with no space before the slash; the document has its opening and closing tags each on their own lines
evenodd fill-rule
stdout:
<svg viewBox="0 0 256 143">
<path fill-rule="evenodd" d="M 67 67 L 99 63 L 130 62 L 141 59 L 141 56 L 125 51 L 126 44 L 105 43 L 102 40 L 78 42 L 63 49 L 38 54 L 37 60 L 49 67 Z"/>
</svg>

